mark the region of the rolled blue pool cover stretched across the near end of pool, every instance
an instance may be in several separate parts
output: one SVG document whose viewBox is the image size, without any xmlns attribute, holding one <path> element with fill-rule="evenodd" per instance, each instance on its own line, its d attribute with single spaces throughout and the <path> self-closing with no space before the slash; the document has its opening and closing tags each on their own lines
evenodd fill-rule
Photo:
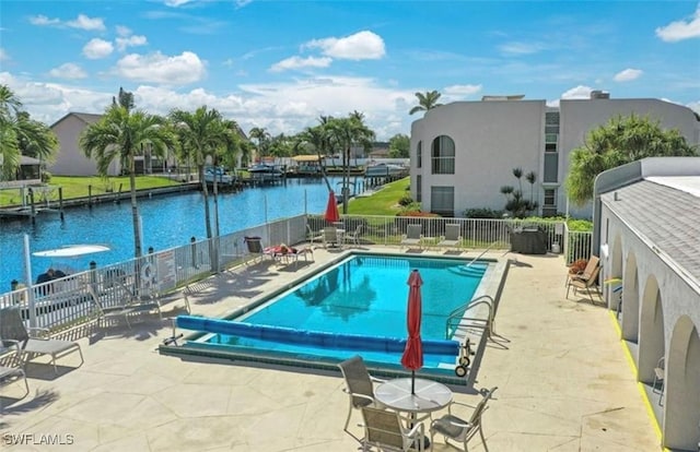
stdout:
<svg viewBox="0 0 700 452">
<path fill-rule="evenodd" d="M 178 316 L 176 323 L 178 328 L 184 330 L 324 348 L 401 353 L 406 347 L 406 338 L 305 331 L 285 326 L 260 325 L 206 317 Z M 424 340 L 423 353 L 458 356 L 459 343 L 450 340 Z"/>
</svg>

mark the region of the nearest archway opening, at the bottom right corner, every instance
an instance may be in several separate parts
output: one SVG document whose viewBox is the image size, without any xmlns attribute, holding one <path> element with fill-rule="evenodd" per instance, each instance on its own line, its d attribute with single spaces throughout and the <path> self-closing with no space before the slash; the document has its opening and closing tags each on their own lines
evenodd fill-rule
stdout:
<svg viewBox="0 0 700 452">
<path fill-rule="evenodd" d="M 663 444 L 695 451 L 700 444 L 700 335 L 689 317 L 676 322 L 666 357 Z"/>
</svg>

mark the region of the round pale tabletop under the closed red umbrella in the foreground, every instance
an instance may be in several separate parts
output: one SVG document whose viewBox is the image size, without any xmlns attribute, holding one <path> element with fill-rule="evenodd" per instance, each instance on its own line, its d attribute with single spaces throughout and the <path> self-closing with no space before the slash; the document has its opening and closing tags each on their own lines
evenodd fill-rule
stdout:
<svg viewBox="0 0 700 452">
<path fill-rule="evenodd" d="M 398 378 L 378 384 L 374 397 L 399 412 L 430 413 L 447 406 L 452 402 L 452 391 L 436 381 L 417 378 L 415 394 L 411 394 L 411 379 Z"/>
</svg>

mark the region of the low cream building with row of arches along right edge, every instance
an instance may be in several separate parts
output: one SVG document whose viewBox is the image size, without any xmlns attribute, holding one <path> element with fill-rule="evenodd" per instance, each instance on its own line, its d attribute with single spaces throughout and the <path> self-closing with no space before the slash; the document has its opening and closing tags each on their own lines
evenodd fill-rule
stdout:
<svg viewBox="0 0 700 452">
<path fill-rule="evenodd" d="M 663 445 L 697 451 L 700 157 L 645 158 L 602 173 L 594 224 L 600 281 L 615 278 L 622 287 L 616 292 L 614 284 L 603 284 L 605 300 L 617 313 L 638 380 L 652 401 Z M 654 381 L 655 368 L 661 382 Z"/>
</svg>

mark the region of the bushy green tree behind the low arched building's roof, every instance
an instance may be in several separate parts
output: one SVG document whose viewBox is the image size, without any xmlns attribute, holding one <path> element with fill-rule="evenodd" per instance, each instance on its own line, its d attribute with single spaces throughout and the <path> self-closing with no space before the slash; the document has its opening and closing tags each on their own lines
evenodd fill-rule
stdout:
<svg viewBox="0 0 700 452">
<path fill-rule="evenodd" d="M 678 130 L 664 130 L 648 117 L 618 116 L 591 130 L 583 146 L 571 152 L 567 193 L 574 204 L 585 205 L 596 176 L 607 169 L 645 157 L 693 155 L 698 150 Z"/>
</svg>

